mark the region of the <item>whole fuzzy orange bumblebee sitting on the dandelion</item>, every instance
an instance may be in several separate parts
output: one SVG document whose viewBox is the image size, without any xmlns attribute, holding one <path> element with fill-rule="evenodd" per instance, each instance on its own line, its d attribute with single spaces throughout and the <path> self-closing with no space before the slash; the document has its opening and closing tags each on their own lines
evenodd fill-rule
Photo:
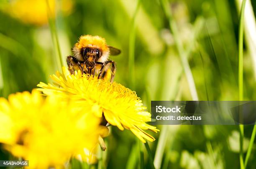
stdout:
<svg viewBox="0 0 256 169">
<path fill-rule="evenodd" d="M 72 47 L 73 56 L 67 57 L 69 72 L 74 74 L 75 70 L 104 78 L 111 67 L 112 83 L 115 77 L 116 64 L 109 60 L 109 55 L 119 55 L 120 50 L 108 46 L 104 38 L 100 36 L 83 35 Z"/>
</svg>

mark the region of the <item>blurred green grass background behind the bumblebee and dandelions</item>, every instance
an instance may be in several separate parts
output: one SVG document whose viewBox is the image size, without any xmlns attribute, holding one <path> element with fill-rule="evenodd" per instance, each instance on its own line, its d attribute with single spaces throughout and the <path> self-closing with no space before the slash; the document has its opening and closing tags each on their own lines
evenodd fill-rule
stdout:
<svg viewBox="0 0 256 169">
<path fill-rule="evenodd" d="M 33 3 L 15 6 L 15 0 L 0 1 L 1 97 L 31 91 L 39 82 L 51 82 L 49 75 L 60 70 L 52 31 L 56 28 L 65 65 L 72 45 L 81 35 L 105 37 L 108 45 L 121 49 L 121 55 L 111 57 L 117 63 L 115 81 L 135 90 L 147 107 L 151 100 L 238 100 L 240 0 L 49 2 L 55 4 L 51 10 L 56 16 L 53 29 L 47 22 L 47 12 L 40 14 Z M 255 100 L 256 1 L 247 0 L 247 5 L 243 89 L 244 100 Z M 46 6 L 41 8 L 47 10 Z M 175 26 L 174 31 L 170 26 Z M 180 50 L 177 43 L 181 44 Z M 192 81 L 187 80 L 189 71 L 184 71 L 181 58 L 189 62 Z M 191 95 L 193 81 L 197 96 Z M 153 134 L 156 141 L 149 144 L 156 168 L 240 168 L 238 126 L 158 128 L 161 132 Z M 253 126 L 245 126 L 244 152 L 252 129 Z M 113 127 L 105 141 L 108 149 L 101 154 L 100 165 L 92 168 L 139 168 L 141 163 L 150 167 L 148 153 L 130 131 Z M 254 146 L 247 168 L 256 168 L 255 149 Z M 9 156 L 1 150 L 0 159 Z"/>
</svg>

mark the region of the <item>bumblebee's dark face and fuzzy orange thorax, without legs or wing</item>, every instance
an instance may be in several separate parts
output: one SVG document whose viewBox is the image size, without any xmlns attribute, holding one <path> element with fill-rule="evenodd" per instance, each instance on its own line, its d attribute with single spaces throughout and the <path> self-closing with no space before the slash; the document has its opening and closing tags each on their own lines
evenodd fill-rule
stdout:
<svg viewBox="0 0 256 169">
<path fill-rule="evenodd" d="M 108 60 L 109 48 L 104 38 L 83 35 L 72 48 L 72 52 L 79 61 L 105 62 Z"/>
</svg>

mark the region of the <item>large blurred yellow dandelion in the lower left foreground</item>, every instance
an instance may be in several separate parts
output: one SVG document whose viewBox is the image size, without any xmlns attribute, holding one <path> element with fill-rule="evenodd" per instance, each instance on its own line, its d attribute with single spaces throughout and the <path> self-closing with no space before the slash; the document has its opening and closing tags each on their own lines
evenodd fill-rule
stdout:
<svg viewBox="0 0 256 169">
<path fill-rule="evenodd" d="M 0 142 L 31 168 L 63 167 L 77 154 L 90 162 L 102 127 L 88 111 L 38 90 L 11 94 L 0 98 Z"/>
</svg>

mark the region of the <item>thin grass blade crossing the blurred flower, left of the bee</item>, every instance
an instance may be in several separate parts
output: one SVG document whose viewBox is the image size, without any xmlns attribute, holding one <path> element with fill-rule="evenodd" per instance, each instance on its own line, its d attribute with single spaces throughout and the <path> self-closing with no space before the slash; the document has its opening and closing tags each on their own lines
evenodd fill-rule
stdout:
<svg viewBox="0 0 256 169">
<path fill-rule="evenodd" d="M 51 12 L 50 5 L 49 5 L 49 0 L 46 0 L 46 5 L 47 5 L 47 15 L 48 15 L 48 22 L 51 30 L 51 38 L 55 46 L 55 50 L 58 53 L 58 58 L 56 60 L 59 60 L 58 65 L 60 67 L 63 67 L 63 62 L 62 62 L 62 57 L 61 57 L 61 50 L 60 50 L 60 45 L 59 45 L 59 37 L 57 34 L 57 29 L 55 25 L 55 20 L 54 20 L 54 15 Z"/>
</svg>

